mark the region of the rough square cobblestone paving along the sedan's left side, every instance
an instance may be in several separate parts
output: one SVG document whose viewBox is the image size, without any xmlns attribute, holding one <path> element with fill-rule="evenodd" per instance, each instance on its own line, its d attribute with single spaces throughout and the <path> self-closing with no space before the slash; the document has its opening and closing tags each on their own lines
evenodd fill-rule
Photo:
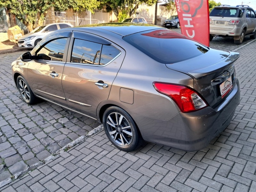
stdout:
<svg viewBox="0 0 256 192">
<path fill-rule="evenodd" d="M 10 65 L 21 53 L 0 56 L 0 186 L 100 125 L 49 102 L 23 102 Z"/>
</svg>

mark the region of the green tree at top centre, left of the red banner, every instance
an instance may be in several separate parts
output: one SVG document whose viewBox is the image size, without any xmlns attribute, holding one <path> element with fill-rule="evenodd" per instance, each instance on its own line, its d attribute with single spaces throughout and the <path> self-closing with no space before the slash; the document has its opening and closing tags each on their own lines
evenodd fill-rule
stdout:
<svg viewBox="0 0 256 192">
<path fill-rule="evenodd" d="M 107 6 L 107 11 L 113 11 L 118 21 L 131 17 L 139 5 L 147 4 L 152 6 L 157 0 L 101 0 L 102 5 Z"/>
</svg>

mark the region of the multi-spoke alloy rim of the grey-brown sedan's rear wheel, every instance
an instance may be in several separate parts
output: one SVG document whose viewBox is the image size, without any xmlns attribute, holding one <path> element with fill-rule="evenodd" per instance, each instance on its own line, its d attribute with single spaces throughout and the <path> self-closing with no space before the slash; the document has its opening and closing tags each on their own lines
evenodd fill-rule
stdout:
<svg viewBox="0 0 256 192">
<path fill-rule="evenodd" d="M 113 141 L 118 145 L 127 146 L 132 142 L 131 125 L 120 113 L 113 112 L 108 115 L 107 130 Z"/>
</svg>

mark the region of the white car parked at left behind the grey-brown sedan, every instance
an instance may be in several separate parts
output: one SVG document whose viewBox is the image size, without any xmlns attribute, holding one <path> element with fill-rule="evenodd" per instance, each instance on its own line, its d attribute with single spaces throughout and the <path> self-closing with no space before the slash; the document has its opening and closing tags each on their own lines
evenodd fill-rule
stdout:
<svg viewBox="0 0 256 192">
<path fill-rule="evenodd" d="M 69 23 L 53 23 L 42 25 L 40 27 L 35 28 L 30 33 L 22 36 L 18 40 L 18 46 L 19 48 L 34 48 L 46 35 L 58 29 L 64 29 L 69 27 L 73 27 L 73 25 Z"/>
</svg>

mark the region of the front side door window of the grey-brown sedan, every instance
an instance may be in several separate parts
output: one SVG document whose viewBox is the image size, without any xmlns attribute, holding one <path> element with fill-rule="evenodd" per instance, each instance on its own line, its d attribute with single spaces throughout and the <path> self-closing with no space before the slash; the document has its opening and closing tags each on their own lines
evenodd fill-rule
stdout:
<svg viewBox="0 0 256 192">
<path fill-rule="evenodd" d="M 55 39 L 44 45 L 37 52 L 36 60 L 62 61 L 67 39 Z"/>
</svg>

